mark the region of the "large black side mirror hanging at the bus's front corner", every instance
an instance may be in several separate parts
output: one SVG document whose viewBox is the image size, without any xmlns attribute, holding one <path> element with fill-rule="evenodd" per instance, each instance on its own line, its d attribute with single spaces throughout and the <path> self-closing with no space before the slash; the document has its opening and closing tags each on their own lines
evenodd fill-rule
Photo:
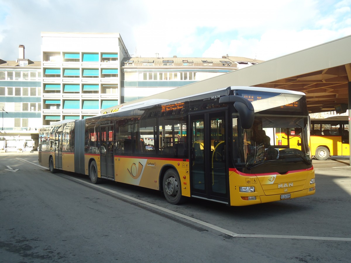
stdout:
<svg viewBox="0 0 351 263">
<path fill-rule="evenodd" d="M 250 129 L 253 124 L 253 119 L 255 112 L 252 106 L 252 103 L 241 96 L 238 95 L 229 95 L 219 98 L 219 103 L 229 104 L 234 103 L 234 108 L 238 111 L 241 127 L 244 129 Z"/>
</svg>

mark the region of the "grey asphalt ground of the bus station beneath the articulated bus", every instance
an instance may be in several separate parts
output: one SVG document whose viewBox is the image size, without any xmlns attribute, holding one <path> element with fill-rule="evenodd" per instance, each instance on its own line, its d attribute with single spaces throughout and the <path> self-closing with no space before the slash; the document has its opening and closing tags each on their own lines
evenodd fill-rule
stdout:
<svg viewBox="0 0 351 263">
<path fill-rule="evenodd" d="M 1 154 L 0 262 L 351 262 L 346 163 L 314 161 L 313 196 L 227 207 Z"/>
</svg>

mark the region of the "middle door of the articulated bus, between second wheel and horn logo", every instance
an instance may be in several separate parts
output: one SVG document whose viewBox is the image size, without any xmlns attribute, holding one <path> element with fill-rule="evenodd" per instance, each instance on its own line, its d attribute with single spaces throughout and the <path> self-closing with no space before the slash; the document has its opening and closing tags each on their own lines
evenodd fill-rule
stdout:
<svg viewBox="0 0 351 263">
<path fill-rule="evenodd" d="M 113 125 L 100 126 L 101 177 L 114 180 Z"/>
</svg>

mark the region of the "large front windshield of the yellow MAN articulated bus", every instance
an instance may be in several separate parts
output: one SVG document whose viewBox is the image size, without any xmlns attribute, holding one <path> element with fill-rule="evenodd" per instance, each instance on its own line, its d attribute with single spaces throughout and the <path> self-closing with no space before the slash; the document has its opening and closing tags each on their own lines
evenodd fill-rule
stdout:
<svg viewBox="0 0 351 263">
<path fill-rule="evenodd" d="M 233 113 L 234 165 L 246 173 L 306 169 L 312 166 L 307 117 L 261 116 L 250 129 L 238 129 Z M 290 169 L 287 168 L 290 166 Z M 280 167 L 280 168 L 279 168 Z"/>
</svg>

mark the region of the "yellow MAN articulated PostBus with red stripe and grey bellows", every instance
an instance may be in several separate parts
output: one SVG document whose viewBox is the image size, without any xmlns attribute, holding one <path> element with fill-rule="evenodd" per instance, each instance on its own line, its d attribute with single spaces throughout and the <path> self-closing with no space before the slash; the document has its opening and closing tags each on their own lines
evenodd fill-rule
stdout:
<svg viewBox="0 0 351 263">
<path fill-rule="evenodd" d="M 276 141 L 284 129 L 298 147 Z M 39 131 L 39 163 L 163 191 L 172 204 L 251 205 L 315 193 L 309 130 L 303 93 L 228 87 L 52 123 Z"/>
</svg>

